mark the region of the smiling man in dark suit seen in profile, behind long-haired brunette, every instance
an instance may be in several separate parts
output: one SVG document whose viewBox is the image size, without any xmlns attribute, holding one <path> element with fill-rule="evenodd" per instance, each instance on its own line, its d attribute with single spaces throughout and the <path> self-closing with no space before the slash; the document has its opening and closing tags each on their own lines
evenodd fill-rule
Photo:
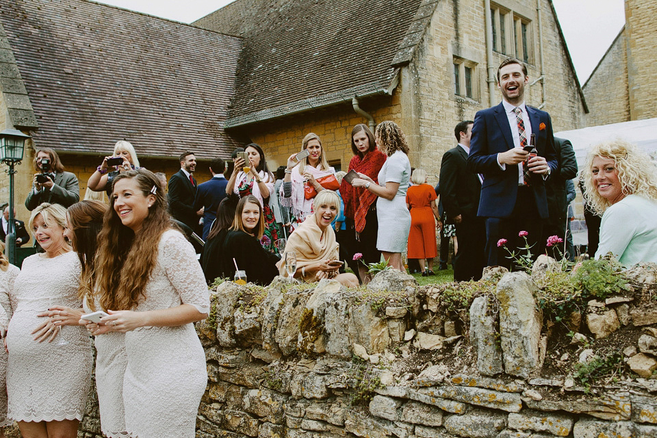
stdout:
<svg viewBox="0 0 657 438">
<path fill-rule="evenodd" d="M 193 152 L 180 155 L 180 170 L 169 179 L 169 211 L 175 220 L 183 222 L 197 234 L 201 234 L 198 219 L 203 216 L 203 208 L 194 209 L 196 197 L 196 157 Z"/>
</svg>

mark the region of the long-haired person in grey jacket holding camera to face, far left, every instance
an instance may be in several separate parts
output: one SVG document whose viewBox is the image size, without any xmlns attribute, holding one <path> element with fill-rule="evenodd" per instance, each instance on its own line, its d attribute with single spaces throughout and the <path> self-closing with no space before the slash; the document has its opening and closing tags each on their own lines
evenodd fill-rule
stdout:
<svg viewBox="0 0 657 438">
<path fill-rule="evenodd" d="M 61 204 L 70 207 L 80 199 L 77 177 L 71 172 L 64 172 L 60 157 L 53 149 L 39 149 L 34 158 L 34 175 L 32 189 L 25 199 L 25 207 L 34 210 L 41 203 Z"/>
</svg>

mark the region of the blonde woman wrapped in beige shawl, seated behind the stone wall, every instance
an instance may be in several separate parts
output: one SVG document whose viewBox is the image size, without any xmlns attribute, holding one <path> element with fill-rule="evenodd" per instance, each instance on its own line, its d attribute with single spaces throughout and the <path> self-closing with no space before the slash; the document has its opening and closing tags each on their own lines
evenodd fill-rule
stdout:
<svg viewBox="0 0 657 438">
<path fill-rule="evenodd" d="M 347 287 L 357 287 L 354 274 L 339 274 L 342 266 L 339 261 L 338 245 L 331 222 L 340 210 L 340 201 L 332 190 L 322 190 L 313 202 L 314 213 L 309 215 L 294 233 L 289 235 L 285 245 L 285 255 L 296 254 L 294 276 L 306 283 L 321 279 L 335 279 Z M 279 261 L 279 271 L 284 270 L 285 255 Z M 282 273 L 287 276 L 287 272 Z"/>
</svg>

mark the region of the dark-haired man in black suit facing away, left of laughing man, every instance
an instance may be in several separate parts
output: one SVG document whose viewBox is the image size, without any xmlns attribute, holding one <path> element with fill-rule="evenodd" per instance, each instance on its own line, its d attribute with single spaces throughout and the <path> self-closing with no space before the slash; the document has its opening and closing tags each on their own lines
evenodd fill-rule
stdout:
<svg viewBox="0 0 657 438">
<path fill-rule="evenodd" d="M 481 181 L 466 168 L 470 151 L 472 120 L 465 120 L 454 128 L 458 146 L 443 155 L 440 164 L 440 198 L 448 218 L 456 224 L 459 250 L 454 259 L 454 281 L 481 279 L 485 266 L 486 227 L 477 216 Z"/>
</svg>

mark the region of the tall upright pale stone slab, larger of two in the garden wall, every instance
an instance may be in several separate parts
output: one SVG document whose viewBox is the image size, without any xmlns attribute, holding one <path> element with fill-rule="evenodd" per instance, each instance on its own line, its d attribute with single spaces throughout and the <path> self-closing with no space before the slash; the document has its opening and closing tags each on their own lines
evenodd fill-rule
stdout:
<svg viewBox="0 0 657 438">
<path fill-rule="evenodd" d="M 504 370 L 512 376 L 528 378 L 541 362 L 539 341 L 543 317 L 534 300 L 536 290 L 524 272 L 509 272 L 498 283 Z"/>
</svg>

